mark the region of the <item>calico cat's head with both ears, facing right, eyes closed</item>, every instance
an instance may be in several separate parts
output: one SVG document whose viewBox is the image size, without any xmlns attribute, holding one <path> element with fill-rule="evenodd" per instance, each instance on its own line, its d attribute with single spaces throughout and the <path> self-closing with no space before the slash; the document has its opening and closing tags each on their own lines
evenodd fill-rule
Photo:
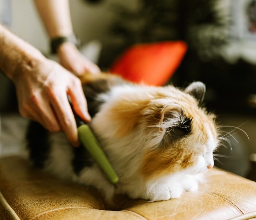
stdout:
<svg viewBox="0 0 256 220">
<path fill-rule="evenodd" d="M 200 108 L 205 86 L 195 82 L 184 92 L 167 86 L 144 109 L 146 127 L 155 147 L 143 156 L 142 175 L 158 177 L 177 171 L 196 174 L 214 165 L 218 145 L 214 115 Z M 162 97 L 161 97 L 162 96 Z M 158 131 L 151 130 L 158 128 Z"/>
</svg>

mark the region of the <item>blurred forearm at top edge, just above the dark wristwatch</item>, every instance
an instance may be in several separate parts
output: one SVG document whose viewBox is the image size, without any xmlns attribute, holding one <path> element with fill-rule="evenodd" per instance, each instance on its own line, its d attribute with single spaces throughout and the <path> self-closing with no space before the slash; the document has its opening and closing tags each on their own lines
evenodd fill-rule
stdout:
<svg viewBox="0 0 256 220">
<path fill-rule="evenodd" d="M 68 0 L 34 0 L 50 38 L 72 34 Z"/>
</svg>

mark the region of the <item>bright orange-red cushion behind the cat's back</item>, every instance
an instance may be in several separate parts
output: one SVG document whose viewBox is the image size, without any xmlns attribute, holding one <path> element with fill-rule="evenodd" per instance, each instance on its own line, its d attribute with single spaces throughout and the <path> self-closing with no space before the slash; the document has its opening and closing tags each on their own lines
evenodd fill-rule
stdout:
<svg viewBox="0 0 256 220">
<path fill-rule="evenodd" d="M 182 41 L 135 45 L 114 62 L 110 72 L 132 82 L 164 85 L 187 51 Z"/>
</svg>

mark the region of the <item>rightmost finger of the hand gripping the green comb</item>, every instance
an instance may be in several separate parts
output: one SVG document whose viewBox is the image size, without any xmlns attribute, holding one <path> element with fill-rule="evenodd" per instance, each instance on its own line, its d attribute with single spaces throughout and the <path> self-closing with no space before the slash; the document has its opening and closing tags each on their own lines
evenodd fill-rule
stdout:
<svg viewBox="0 0 256 220">
<path fill-rule="evenodd" d="M 87 103 L 83 93 L 82 84 L 79 79 L 75 80 L 72 88 L 68 88 L 68 94 L 71 97 L 75 112 L 84 120 L 90 121 L 91 116 L 87 110 Z"/>
</svg>

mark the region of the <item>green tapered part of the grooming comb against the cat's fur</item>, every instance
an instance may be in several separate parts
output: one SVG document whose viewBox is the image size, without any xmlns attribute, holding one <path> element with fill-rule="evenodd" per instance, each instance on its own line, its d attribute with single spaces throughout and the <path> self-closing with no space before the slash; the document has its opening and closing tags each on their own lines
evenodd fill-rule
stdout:
<svg viewBox="0 0 256 220">
<path fill-rule="evenodd" d="M 98 165 L 101 167 L 103 172 L 107 175 L 109 180 L 116 184 L 119 181 L 119 178 L 114 171 L 113 167 L 110 165 L 106 155 L 104 154 L 103 150 L 101 149 L 97 139 L 95 138 L 93 132 L 91 132 L 90 127 L 87 124 L 83 124 L 78 127 L 78 136 L 80 142 L 83 144 L 84 147 L 89 151 Z"/>
</svg>

